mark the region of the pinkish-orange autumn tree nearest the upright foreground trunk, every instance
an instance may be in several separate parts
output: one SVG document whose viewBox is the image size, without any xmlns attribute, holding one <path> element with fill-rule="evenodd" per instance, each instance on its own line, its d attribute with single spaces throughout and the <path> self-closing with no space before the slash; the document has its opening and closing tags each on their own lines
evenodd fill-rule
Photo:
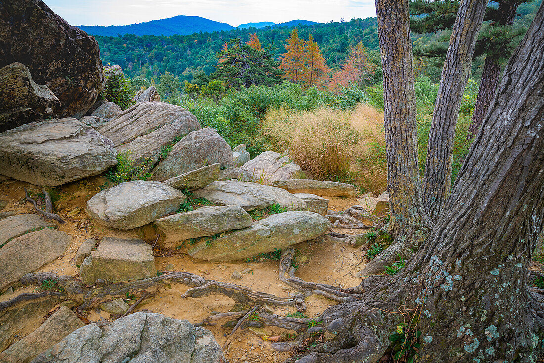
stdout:
<svg viewBox="0 0 544 363">
<path fill-rule="evenodd" d="M 378 66 L 368 59 L 367 49 L 362 42 L 351 48 L 348 55 L 348 61 L 342 66 L 342 69 L 332 73 L 329 89 L 339 91 L 342 87 L 347 87 L 349 82 L 354 82 L 362 88 L 364 84 L 372 78 Z"/>
</svg>

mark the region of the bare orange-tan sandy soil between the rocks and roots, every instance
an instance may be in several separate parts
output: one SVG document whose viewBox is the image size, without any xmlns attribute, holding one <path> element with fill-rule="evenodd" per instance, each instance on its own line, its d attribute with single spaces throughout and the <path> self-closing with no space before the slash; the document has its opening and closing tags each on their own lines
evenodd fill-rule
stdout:
<svg viewBox="0 0 544 363">
<path fill-rule="evenodd" d="M 65 224 L 59 225 L 58 230 L 64 231 L 72 236 L 72 242 L 64 256 L 56 261 L 42 267 L 40 271 L 54 272 L 59 275 L 78 276 L 78 268 L 75 265 L 75 254 L 85 239 L 101 239 L 105 236 L 114 237 L 137 237 L 153 244 L 158 237 L 157 231 L 146 225 L 130 231 L 110 229 L 97 223 L 91 222 L 86 216 L 85 203 L 107 183 L 105 177 L 89 177 L 81 181 L 66 184 L 59 187 L 58 200 L 55 204 L 55 211 L 66 220 Z M 33 193 L 40 193 L 40 188 L 21 181 L 2 180 L 0 181 L 0 200 L 8 202 L 2 212 L 14 211 L 16 213 L 32 213 L 33 207 L 24 202 L 24 188 Z M 357 198 L 331 198 L 330 209 L 339 211 L 357 204 Z M 345 231 L 342 231 L 345 232 Z M 362 233 L 357 230 L 357 233 Z M 301 279 L 312 282 L 324 282 L 326 284 L 350 287 L 358 285 L 359 279 L 355 277 L 366 261 L 363 259 L 364 247 L 351 247 L 339 245 L 326 241 L 304 242 L 294 245 L 296 249 L 295 264 L 298 265 L 296 275 Z M 157 270 L 185 270 L 206 279 L 213 279 L 222 282 L 233 282 L 248 286 L 256 291 L 264 291 L 277 296 L 287 297 L 292 288 L 283 285 L 278 279 L 278 261 L 258 260 L 254 262 L 228 262 L 210 263 L 207 261 L 193 260 L 184 254 L 184 250 L 176 251 L 176 254 L 165 257 L 156 257 Z M 243 274 L 242 280 L 231 279 L 234 270 Z M 24 287 L 15 291 L 14 294 L 3 294 L 0 302 L 13 298 L 21 292 L 32 292 L 36 287 Z M 188 287 L 184 285 L 172 285 L 170 288 L 160 292 L 144 305 L 139 305 L 137 311 L 147 310 L 160 312 L 176 319 L 187 319 L 191 323 L 200 323 L 208 317 L 212 311 L 230 311 L 234 302 L 232 299 L 217 295 L 206 298 L 182 299 L 182 294 Z M 321 296 L 312 296 L 306 300 L 308 307 L 307 315 L 318 316 L 327 306 L 335 304 L 332 300 Z M 276 313 L 285 316 L 288 309 L 276 309 Z M 99 321 L 101 318 L 110 319 L 109 313 L 97 309 L 91 311 L 87 317 L 89 321 Z M 206 327 L 211 330 L 215 339 L 222 344 L 232 328 L 221 328 L 220 325 Z M 267 328 L 269 335 L 281 334 L 279 328 Z M 226 335 L 226 336 L 225 336 Z M 249 330 L 239 329 L 233 346 L 226 357 L 229 362 L 269 362 L 283 361 L 288 353 L 279 353 L 270 349 L 269 342 L 263 341 L 259 336 Z"/>
</svg>

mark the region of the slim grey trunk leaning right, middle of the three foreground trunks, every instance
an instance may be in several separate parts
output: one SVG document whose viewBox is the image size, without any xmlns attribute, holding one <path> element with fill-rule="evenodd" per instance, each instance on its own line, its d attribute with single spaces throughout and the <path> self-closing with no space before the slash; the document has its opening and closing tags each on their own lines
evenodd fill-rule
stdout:
<svg viewBox="0 0 544 363">
<path fill-rule="evenodd" d="M 438 219 L 451 186 L 455 125 L 486 7 L 487 0 L 462 0 L 449 39 L 432 115 L 423 182 L 425 206 L 433 222 Z"/>
</svg>

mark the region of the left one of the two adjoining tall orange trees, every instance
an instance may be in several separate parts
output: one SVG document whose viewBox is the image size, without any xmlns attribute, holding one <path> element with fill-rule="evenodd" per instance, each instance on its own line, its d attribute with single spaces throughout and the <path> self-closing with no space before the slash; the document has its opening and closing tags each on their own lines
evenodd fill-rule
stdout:
<svg viewBox="0 0 544 363">
<path fill-rule="evenodd" d="M 287 52 L 282 54 L 280 64 L 280 69 L 284 72 L 283 78 L 293 83 L 301 83 L 307 71 L 305 62 L 306 41 L 299 38 L 299 32 L 296 28 L 293 29 L 287 39 L 285 48 Z"/>
</svg>

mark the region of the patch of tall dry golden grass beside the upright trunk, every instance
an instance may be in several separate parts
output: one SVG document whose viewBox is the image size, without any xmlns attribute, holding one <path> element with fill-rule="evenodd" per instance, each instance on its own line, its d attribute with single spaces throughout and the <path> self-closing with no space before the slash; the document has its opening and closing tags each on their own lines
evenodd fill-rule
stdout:
<svg viewBox="0 0 544 363">
<path fill-rule="evenodd" d="M 269 110 L 261 132 L 270 150 L 287 152 L 308 177 L 379 194 L 387 183 L 383 122 L 384 114 L 367 104 L 352 111 L 281 108 Z"/>
</svg>

